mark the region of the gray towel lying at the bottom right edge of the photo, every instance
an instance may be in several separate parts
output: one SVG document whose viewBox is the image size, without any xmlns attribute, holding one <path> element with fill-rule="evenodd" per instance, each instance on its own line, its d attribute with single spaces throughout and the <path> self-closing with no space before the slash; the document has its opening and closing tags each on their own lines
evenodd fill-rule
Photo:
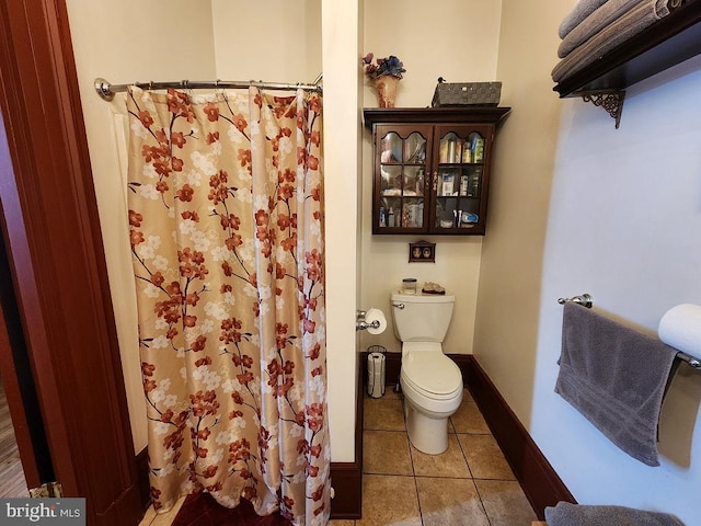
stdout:
<svg viewBox="0 0 701 526">
<path fill-rule="evenodd" d="M 623 506 L 585 506 L 559 502 L 545 507 L 548 526 L 683 526 L 666 513 Z"/>
</svg>

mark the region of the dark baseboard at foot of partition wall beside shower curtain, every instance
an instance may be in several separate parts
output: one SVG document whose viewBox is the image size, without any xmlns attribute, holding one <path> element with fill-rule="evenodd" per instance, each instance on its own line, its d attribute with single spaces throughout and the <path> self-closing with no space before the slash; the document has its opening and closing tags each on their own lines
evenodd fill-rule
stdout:
<svg viewBox="0 0 701 526">
<path fill-rule="evenodd" d="M 356 419 L 355 419 L 355 461 L 331 462 L 331 485 L 334 498 L 331 500 L 332 519 L 358 519 L 363 513 L 363 379 L 367 376 L 367 353 L 358 355 Z"/>
</svg>

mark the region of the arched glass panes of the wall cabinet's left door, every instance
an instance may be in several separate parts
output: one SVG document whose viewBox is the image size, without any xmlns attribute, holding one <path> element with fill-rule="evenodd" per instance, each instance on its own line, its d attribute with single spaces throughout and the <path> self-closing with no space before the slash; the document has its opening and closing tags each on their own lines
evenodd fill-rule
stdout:
<svg viewBox="0 0 701 526">
<path fill-rule="evenodd" d="M 379 229 L 423 229 L 427 135 L 395 127 L 379 133 Z M 389 128 L 388 128 L 389 129 Z"/>
</svg>

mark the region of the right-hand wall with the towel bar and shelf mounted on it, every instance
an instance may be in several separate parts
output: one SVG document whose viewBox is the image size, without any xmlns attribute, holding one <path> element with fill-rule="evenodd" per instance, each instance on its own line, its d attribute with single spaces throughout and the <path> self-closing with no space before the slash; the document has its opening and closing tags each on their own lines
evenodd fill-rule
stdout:
<svg viewBox="0 0 701 526">
<path fill-rule="evenodd" d="M 582 504 L 701 525 L 701 377 L 681 367 L 663 409 L 662 466 L 632 459 L 553 388 L 561 296 L 654 332 L 701 304 L 701 60 L 628 91 L 621 128 L 551 91 L 558 25 L 575 1 L 504 0 L 498 72 L 513 115 L 499 137 L 483 244 L 475 356 Z"/>
</svg>

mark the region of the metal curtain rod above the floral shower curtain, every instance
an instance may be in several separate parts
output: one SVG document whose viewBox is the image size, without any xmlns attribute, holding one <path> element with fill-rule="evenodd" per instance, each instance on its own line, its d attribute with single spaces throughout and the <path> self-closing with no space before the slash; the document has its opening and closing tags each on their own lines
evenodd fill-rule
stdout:
<svg viewBox="0 0 701 526">
<path fill-rule="evenodd" d="M 180 88 L 181 90 L 204 90 L 204 89 L 237 89 L 237 88 L 250 88 L 251 85 L 265 89 L 265 90 L 309 90 L 309 91 L 323 91 L 323 87 L 319 84 L 321 79 L 323 78 L 323 73 L 319 73 L 319 77 L 314 79 L 311 84 L 303 83 L 286 83 L 286 82 L 263 82 L 250 80 L 248 82 L 243 81 L 228 81 L 228 80 L 216 80 L 216 81 L 192 81 L 192 80 L 180 80 L 173 82 L 134 82 L 131 84 L 112 84 L 105 79 L 97 78 L 95 79 L 95 91 L 97 94 L 105 101 L 111 101 L 114 99 L 115 93 L 119 93 L 123 91 L 127 91 L 129 85 L 136 85 L 137 88 L 142 88 L 146 90 L 165 90 L 168 88 Z"/>
</svg>

